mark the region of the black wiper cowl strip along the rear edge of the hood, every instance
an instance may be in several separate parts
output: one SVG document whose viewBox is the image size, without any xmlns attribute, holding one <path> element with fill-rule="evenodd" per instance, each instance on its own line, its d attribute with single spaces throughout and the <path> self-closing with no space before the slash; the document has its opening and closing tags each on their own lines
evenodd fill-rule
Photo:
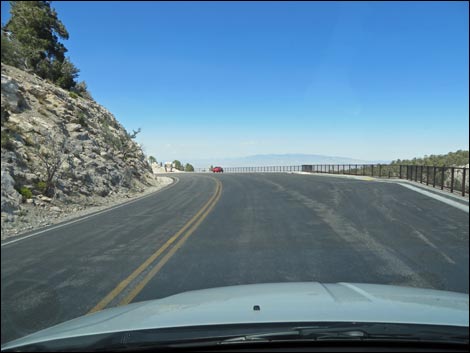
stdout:
<svg viewBox="0 0 470 353">
<path fill-rule="evenodd" d="M 182 331 L 181 331 L 182 330 Z M 258 332 L 257 332 L 258 331 Z M 236 333 L 237 332 L 237 333 Z M 322 323 L 315 326 L 197 327 L 137 330 L 73 337 L 21 347 L 26 351 L 134 351 L 280 342 L 409 342 L 468 346 L 468 327 L 387 323 Z M 228 347 L 229 348 L 229 347 Z"/>
</svg>

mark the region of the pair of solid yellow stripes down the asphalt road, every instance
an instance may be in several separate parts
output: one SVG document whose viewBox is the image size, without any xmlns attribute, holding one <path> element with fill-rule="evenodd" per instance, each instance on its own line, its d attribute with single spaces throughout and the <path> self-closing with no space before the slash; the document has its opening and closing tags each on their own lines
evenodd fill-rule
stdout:
<svg viewBox="0 0 470 353">
<path fill-rule="evenodd" d="M 188 221 L 186 224 L 176 232 L 165 244 L 157 251 L 155 251 L 142 265 L 140 265 L 134 272 L 132 272 L 125 280 L 119 283 L 108 295 L 106 295 L 88 314 L 96 311 L 103 310 L 111 301 L 113 301 L 119 294 L 126 289 L 132 281 L 134 281 L 142 272 L 144 272 L 166 249 L 170 247 L 178 238 L 182 236 L 176 244 L 158 261 L 158 263 L 145 275 L 145 277 L 127 294 L 127 296 L 119 302 L 119 305 L 129 304 L 137 294 L 147 285 L 147 283 L 161 270 L 161 268 L 168 262 L 168 260 L 178 251 L 184 244 L 189 236 L 197 229 L 201 222 L 212 211 L 216 203 L 222 195 L 222 183 L 213 178 L 216 182 L 216 188 L 212 197 L 204 204 L 204 206 Z"/>
</svg>

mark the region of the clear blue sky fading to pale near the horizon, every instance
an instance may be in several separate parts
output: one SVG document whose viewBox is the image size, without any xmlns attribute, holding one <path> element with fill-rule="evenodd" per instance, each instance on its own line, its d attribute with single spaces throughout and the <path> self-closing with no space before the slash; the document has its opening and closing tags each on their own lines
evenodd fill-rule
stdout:
<svg viewBox="0 0 470 353">
<path fill-rule="evenodd" d="M 79 80 L 158 161 L 469 148 L 467 2 L 52 6 Z"/>
</svg>

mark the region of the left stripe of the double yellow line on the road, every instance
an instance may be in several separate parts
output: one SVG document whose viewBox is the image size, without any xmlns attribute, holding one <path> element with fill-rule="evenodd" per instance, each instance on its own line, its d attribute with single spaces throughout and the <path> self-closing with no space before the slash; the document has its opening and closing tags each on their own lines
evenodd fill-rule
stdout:
<svg viewBox="0 0 470 353">
<path fill-rule="evenodd" d="M 216 190 L 214 194 L 212 195 L 212 197 L 204 204 L 204 206 L 188 222 L 186 222 L 186 224 L 178 232 L 176 232 L 170 239 L 168 239 L 161 248 L 155 251 L 136 270 L 134 270 L 134 272 L 132 272 L 126 279 L 121 281 L 98 304 L 96 304 L 88 312 L 88 314 L 103 310 L 106 307 L 106 305 L 108 305 L 114 298 L 116 298 L 134 279 L 137 278 L 137 276 L 139 276 L 148 266 L 150 266 L 150 264 L 154 262 L 158 258 L 158 256 L 160 256 L 171 244 L 173 244 L 176 241 L 176 239 L 178 239 L 181 236 L 181 234 L 183 234 L 191 226 L 191 224 L 193 224 L 198 219 L 198 217 L 200 217 L 204 213 L 204 211 L 206 211 L 211 206 L 214 200 L 216 199 L 218 200 L 218 196 L 220 195 L 219 191 L 222 189 L 222 183 L 217 179 L 214 179 L 214 180 L 216 180 Z M 212 204 L 212 207 L 214 204 Z M 212 207 L 210 208 L 212 209 Z M 206 215 L 207 214 L 204 214 L 203 218 L 206 217 Z"/>
</svg>

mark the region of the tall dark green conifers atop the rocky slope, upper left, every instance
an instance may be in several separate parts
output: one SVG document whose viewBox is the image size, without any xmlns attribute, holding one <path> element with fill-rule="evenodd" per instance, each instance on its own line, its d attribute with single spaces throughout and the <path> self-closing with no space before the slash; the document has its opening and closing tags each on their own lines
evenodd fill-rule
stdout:
<svg viewBox="0 0 470 353">
<path fill-rule="evenodd" d="M 2 63 L 35 73 L 57 86 L 92 99 L 80 70 L 66 57 L 59 39 L 69 33 L 50 1 L 10 1 L 11 17 L 2 24 Z"/>
</svg>

